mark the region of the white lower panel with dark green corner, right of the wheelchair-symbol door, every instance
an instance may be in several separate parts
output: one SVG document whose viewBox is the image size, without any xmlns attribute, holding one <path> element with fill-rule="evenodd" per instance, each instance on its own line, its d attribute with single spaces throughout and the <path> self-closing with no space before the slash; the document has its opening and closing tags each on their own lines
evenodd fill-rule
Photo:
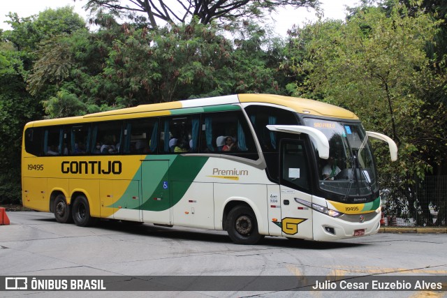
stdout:
<svg viewBox="0 0 447 298">
<path fill-rule="evenodd" d="M 173 224 L 214 230 L 213 184 L 173 181 L 173 198 L 182 195 L 174 205 Z"/>
</svg>

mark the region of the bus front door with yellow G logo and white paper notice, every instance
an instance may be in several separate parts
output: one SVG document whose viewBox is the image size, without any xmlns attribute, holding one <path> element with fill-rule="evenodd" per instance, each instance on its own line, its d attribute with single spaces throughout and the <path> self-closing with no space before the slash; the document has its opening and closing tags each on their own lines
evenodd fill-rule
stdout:
<svg viewBox="0 0 447 298">
<path fill-rule="evenodd" d="M 281 141 L 281 230 L 284 237 L 312 239 L 312 209 L 300 204 L 311 202 L 310 175 L 305 142 Z M 295 199 L 298 199 L 295 200 Z"/>
</svg>

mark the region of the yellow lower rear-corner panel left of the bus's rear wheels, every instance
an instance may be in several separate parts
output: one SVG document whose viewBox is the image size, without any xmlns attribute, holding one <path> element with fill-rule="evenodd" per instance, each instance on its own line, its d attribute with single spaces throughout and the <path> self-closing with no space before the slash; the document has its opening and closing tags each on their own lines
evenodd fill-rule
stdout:
<svg viewBox="0 0 447 298">
<path fill-rule="evenodd" d="M 38 211 L 50 211 L 50 204 L 45 200 L 47 191 L 47 178 L 22 178 L 23 206 Z"/>
</svg>

